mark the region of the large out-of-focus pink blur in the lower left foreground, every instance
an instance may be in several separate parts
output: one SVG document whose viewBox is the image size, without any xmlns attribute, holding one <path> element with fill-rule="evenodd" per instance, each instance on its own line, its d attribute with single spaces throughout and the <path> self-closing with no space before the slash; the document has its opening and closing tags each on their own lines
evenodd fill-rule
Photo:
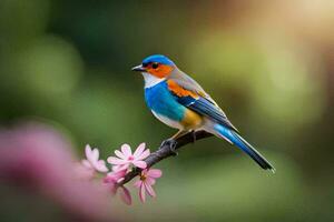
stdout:
<svg viewBox="0 0 334 222">
<path fill-rule="evenodd" d="M 73 176 L 78 159 L 66 135 L 38 122 L 21 123 L 13 129 L 0 128 L 1 201 L 10 200 L 12 205 L 20 205 L 21 201 L 27 203 L 29 195 L 33 211 L 48 208 L 41 202 L 52 203 L 58 209 L 52 213 L 58 221 L 69 218 L 75 221 L 120 221 L 101 185 Z M 45 215 L 50 218 L 48 212 Z M 27 221 L 37 221 L 35 218 L 24 215 Z"/>
</svg>

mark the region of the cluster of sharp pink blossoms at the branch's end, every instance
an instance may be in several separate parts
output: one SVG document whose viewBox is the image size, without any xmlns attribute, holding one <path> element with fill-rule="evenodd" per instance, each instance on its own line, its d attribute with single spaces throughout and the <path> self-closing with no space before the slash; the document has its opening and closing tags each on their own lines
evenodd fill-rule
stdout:
<svg viewBox="0 0 334 222">
<path fill-rule="evenodd" d="M 107 159 L 107 162 L 111 164 L 111 171 L 109 171 L 104 160 L 99 160 L 99 150 L 97 148 L 91 149 L 90 145 L 87 144 L 85 152 L 86 159 L 81 161 L 81 165 L 86 171 L 87 178 L 92 179 L 96 173 L 105 174 L 104 183 L 114 195 L 119 192 L 120 199 L 126 204 L 131 204 L 131 194 L 125 185 L 119 185 L 119 183 L 125 179 L 126 174 L 135 168 L 141 169 L 138 180 L 134 184 L 134 186 L 139 190 L 140 201 L 145 202 L 146 194 L 153 198 L 156 196 L 153 185 L 156 179 L 161 176 L 161 171 L 147 168 L 144 160 L 150 152 L 149 149 L 145 149 L 145 143 L 139 144 L 134 153 L 128 144 L 122 144 L 120 150 L 115 150 L 116 157 L 109 157 Z"/>
</svg>

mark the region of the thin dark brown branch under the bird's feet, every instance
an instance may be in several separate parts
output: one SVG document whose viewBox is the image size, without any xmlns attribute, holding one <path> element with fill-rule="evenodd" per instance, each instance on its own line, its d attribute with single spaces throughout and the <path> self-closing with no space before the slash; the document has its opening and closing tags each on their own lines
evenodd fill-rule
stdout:
<svg viewBox="0 0 334 222">
<path fill-rule="evenodd" d="M 195 135 L 193 132 L 189 132 L 176 140 L 177 144 L 176 144 L 175 150 L 179 150 L 184 145 L 194 142 L 195 139 L 197 141 L 197 140 L 208 138 L 208 137 L 212 137 L 212 134 L 208 132 L 205 132 L 205 131 L 197 131 L 197 132 L 195 132 Z M 145 159 L 145 162 L 147 163 L 147 168 L 150 168 L 151 165 L 160 162 L 161 160 L 173 157 L 173 155 L 175 155 L 175 152 L 173 152 L 170 150 L 168 144 L 164 144 L 164 145 L 160 145 L 157 151 L 150 153 L 150 155 Z M 140 173 L 140 171 L 141 171 L 141 169 L 135 168 L 132 171 L 130 171 L 126 174 L 125 179 L 121 182 L 119 182 L 118 185 L 124 185 L 125 183 L 129 182 L 136 175 L 138 175 Z"/>
</svg>

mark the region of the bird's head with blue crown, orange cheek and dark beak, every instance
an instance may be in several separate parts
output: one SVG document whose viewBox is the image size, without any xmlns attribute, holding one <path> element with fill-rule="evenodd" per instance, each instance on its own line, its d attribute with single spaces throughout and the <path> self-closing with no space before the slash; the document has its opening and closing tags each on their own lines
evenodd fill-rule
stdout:
<svg viewBox="0 0 334 222">
<path fill-rule="evenodd" d="M 163 54 L 145 58 L 141 64 L 134 67 L 132 71 L 147 72 L 157 78 L 165 78 L 175 69 L 175 63 Z"/>
</svg>

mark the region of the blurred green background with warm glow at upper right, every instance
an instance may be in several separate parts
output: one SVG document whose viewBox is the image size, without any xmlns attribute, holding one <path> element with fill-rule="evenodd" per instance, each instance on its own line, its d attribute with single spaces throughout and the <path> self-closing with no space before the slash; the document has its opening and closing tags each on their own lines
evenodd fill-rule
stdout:
<svg viewBox="0 0 334 222">
<path fill-rule="evenodd" d="M 0 122 L 48 122 L 80 157 L 86 143 L 104 158 L 125 142 L 155 150 L 175 130 L 147 110 L 130 68 L 163 53 L 277 172 L 210 138 L 157 165 L 157 199 L 120 211 L 135 221 L 333 221 L 333 23 L 331 0 L 1 0 Z M 0 220 L 29 219 L 17 204 Z"/>
</svg>

